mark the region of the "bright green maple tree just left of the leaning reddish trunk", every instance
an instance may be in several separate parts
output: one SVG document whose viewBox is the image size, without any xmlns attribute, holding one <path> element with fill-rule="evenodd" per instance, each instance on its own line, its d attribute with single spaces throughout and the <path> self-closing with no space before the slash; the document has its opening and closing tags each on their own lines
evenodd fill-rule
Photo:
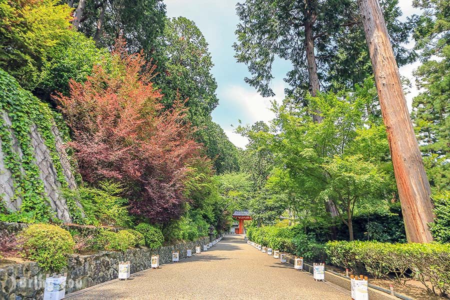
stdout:
<svg viewBox="0 0 450 300">
<path fill-rule="evenodd" d="M 308 108 L 286 99 L 274 107 L 271 133 L 252 133 L 274 155 L 277 169 L 267 184 L 287 196 L 286 206 L 311 215 L 332 201 L 350 239 L 353 213 L 363 210 L 364 203 L 385 202 L 394 191 L 385 129 L 369 121 L 366 107 L 372 97 L 367 90 L 319 93 L 308 98 Z M 322 122 L 314 122 L 308 109 L 321 111 Z"/>
</svg>

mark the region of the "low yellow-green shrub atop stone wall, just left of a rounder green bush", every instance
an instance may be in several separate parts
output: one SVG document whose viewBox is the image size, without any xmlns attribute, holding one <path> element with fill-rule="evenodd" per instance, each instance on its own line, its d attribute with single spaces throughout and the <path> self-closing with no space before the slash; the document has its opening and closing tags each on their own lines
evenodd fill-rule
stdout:
<svg viewBox="0 0 450 300">
<path fill-rule="evenodd" d="M 136 245 L 137 237 L 128 230 L 102 231 L 97 237 L 100 247 L 111 251 L 125 251 Z"/>
</svg>

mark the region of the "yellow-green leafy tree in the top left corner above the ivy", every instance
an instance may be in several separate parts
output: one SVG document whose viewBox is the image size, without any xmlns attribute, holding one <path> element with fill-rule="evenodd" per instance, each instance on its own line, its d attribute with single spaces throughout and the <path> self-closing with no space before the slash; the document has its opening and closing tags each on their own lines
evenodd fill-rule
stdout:
<svg viewBox="0 0 450 300">
<path fill-rule="evenodd" d="M 42 66 L 73 35 L 71 9 L 58 0 L 0 1 L 0 67 L 32 90 Z"/>
</svg>

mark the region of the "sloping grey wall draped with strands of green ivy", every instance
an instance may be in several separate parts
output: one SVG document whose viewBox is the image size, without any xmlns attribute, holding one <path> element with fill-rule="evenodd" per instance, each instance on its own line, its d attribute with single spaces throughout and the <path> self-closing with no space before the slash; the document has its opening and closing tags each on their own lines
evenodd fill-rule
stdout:
<svg viewBox="0 0 450 300">
<path fill-rule="evenodd" d="M 81 205 L 54 112 L 0 69 L 0 220 L 71 222 Z"/>
</svg>

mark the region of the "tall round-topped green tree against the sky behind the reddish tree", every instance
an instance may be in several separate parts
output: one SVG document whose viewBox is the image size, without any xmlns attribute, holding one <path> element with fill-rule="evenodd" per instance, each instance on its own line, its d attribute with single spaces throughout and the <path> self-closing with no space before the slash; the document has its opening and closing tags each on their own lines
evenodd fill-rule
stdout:
<svg viewBox="0 0 450 300">
<path fill-rule="evenodd" d="M 212 58 L 208 44 L 195 25 L 185 17 L 168 19 L 164 28 L 166 101 L 187 98 L 189 118 L 195 125 L 204 123 L 217 106 L 217 83 L 211 74 Z"/>
</svg>

